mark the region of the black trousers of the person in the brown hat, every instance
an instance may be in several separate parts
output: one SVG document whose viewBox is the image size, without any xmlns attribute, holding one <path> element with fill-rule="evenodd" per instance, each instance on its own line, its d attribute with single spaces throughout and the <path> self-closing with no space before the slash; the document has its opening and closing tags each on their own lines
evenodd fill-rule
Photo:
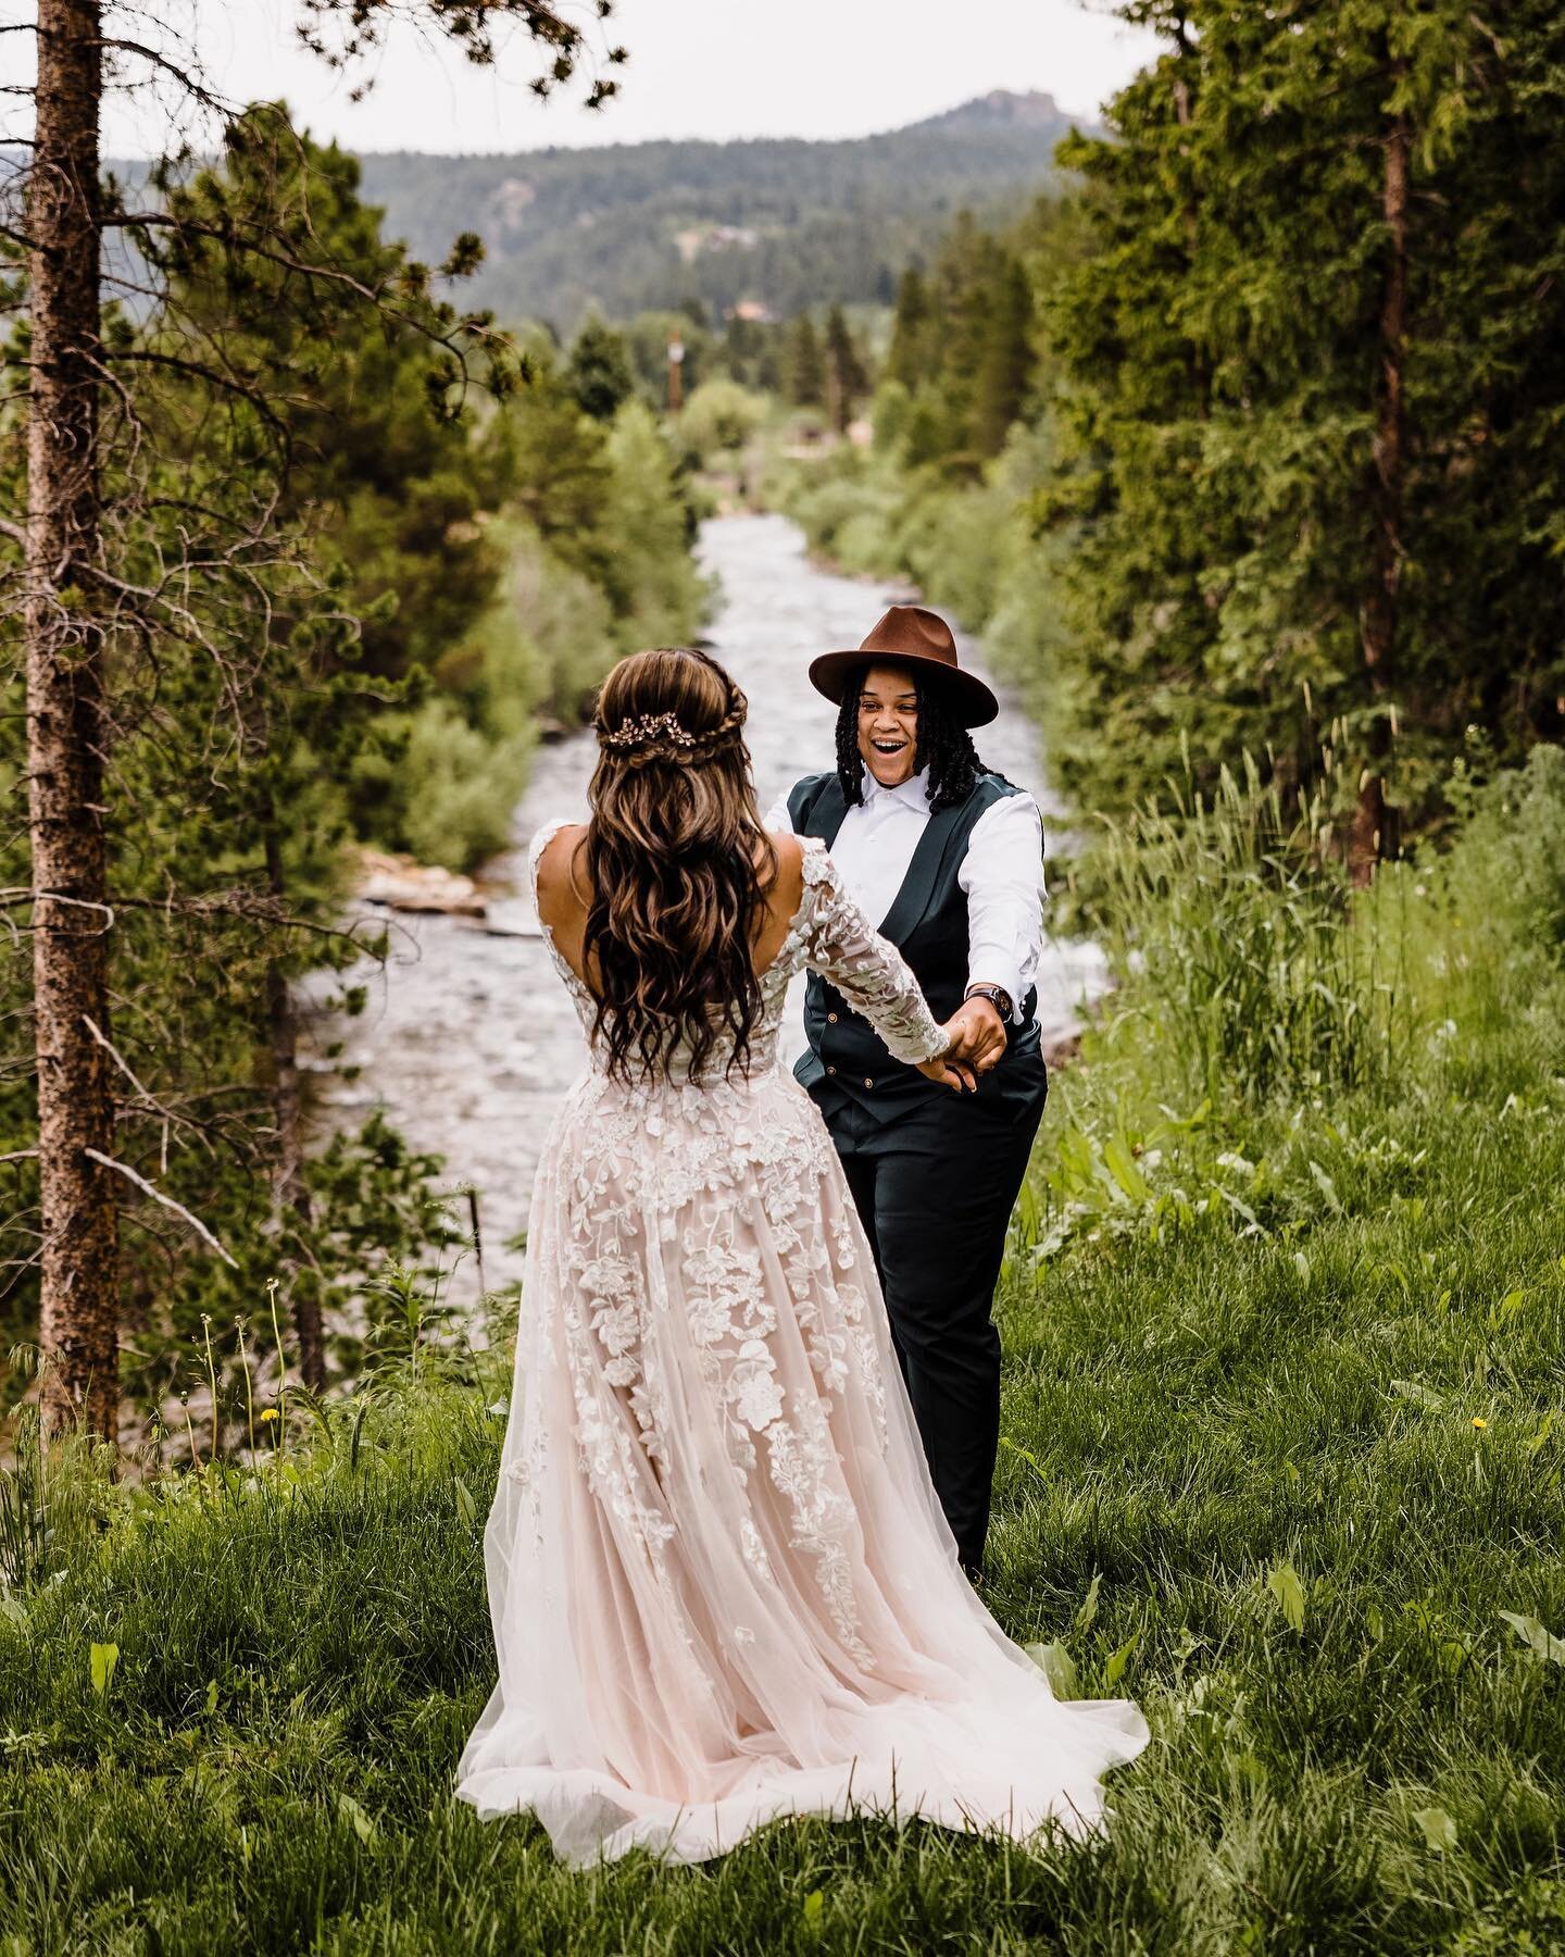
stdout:
<svg viewBox="0 0 1565 1957">
<path fill-rule="evenodd" d="M 1002 1063 L 1004 1065 L 1004 1063 Z M 984 1568 L 1000 1448 L 994 1286 L 1047 1076 L 1033 1100 L 923 1104 L 892 1121 L 839 1092 L 816 1100 L 837 1145 L 886 1294 L 896 1356 L 962 1568 Z"/>
</svg>

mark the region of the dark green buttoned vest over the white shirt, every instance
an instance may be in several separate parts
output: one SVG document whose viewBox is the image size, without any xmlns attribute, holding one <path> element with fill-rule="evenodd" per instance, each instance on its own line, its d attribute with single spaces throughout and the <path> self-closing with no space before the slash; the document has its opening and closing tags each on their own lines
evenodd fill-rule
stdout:
<svg viewBox="0 0 1565 1957">
<path fill-rule="evenodd" d="M 949 1020 L 962 1004 L 968 980 L 966 892 L 959 883 L 972 828 L 1002 796 L 1019 795 L 1000 775 L 980 775 L 978 787 L 957 808 L 933 814 L 917 840 L 908 875 L 892 908 L 876 924 L 917 978 L 929 1010 Z M 835 769 L 808 775 L 788 796 L 788 816 L 796 836 L 820 836 L 829 849 L 847 816 L 847 800 Z M 978 1100 L 996 1104 L 1031 1102 L 1039 1092 L 1043 1063 L 1039 1029 L 1031 1024 L 1037 994 L 1023 1000 L 1023 1025 L 1011 1027 L 1004 1061 L 978 1084 Z M 810 1051 L 794 1067 L 798 1080 L 818 1100 L 839 1090 L 849 1100 L 886 1119 L 910 1104 L 951 1098 L 951 1088 L 925 1080 L 914 1067 L 892 1057 L 886 1043 L 861 1014 L 853 1012 L 833 984 L 810 973 L 804 994 L 804 1033 Z"/>
</svg>

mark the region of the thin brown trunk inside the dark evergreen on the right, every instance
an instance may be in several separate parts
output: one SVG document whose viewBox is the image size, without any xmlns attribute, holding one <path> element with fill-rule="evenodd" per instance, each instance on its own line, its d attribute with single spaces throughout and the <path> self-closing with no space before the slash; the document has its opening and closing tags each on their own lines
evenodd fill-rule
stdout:
<svg viewBox="0 0 1565 1957">
<path fill-rule="evenodd" d="M 1401 63 L 1391 65 L 1393 78 Z M 1371 693 L 1391 689 L 1397 648 L 1397 593 L 1403 579 L 1403 474 L 1405 405 L 1403 366 L 1407 358 L 1407 178 L 1410 129 L 1397 115 L 1385 139 L 1381 211 L 1387 229 L 1385 280 L 1381 284 L 1379 389 L 1375 399 L 1375 452 L 1369 472 L 1369 589 L 1364 599 L 1360 636 Z M 1383 718 L 1375 718 L 1369 759 L 1364 769 L 1358 810 L 1348 845 L 1356 883 L 1367 883 L 1385 849 L 1385 759 L 1391 738 Z"/>
</svg>

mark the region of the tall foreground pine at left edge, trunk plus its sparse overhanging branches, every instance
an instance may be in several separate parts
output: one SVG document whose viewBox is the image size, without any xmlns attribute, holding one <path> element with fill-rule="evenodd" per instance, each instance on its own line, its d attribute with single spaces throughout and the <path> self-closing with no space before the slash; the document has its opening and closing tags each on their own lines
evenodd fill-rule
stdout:
<svg viewBox="0 0 1565 1957">
<path fill-rule="evenodd" d="M 479 61 L 493 59 L 495 18 L 514 20 L 544 49 L 548 90 L 571 74 L 583 35 L 542 0 L 501 0 L 493 8 L 430 0 L 425 14 L 456 33 Z M 43 1413 L 51 1429 L 84 1421 L 113 1434 L 117 1405 L 117 1204 L 125 1164 L 115 1157 L 113 1029 L 110 1016 L 110 939 L 115 908 L 108 885 L 110 663 L 121 642 L 155 634 L 176 603 L 160 583 L 139 585 L 143 566 L 112 558 L 112 499 L 119 493 L 108 464 L 113 442 L 135 456 L 139 415 L 133 380 L 180 358 L 203 374 L 215 397 L 246 391 L 243 376 L 203 366 L 190 348 L 145 348 L 106 333 L 104 237 L 110 227 L 170 233 L 168 211 L 127 213 L 100 184 L 104 49 L 115 49 L 115 84 L 178 88 L 209 100 L 194 72 L 176 61 L 145 57 L 131 33 L 115 35 L 117 8 L 102 0 L 41 0 L 33 25 L 37 74 L 33 139 L 23 168 L 22 239 L 27 250 L 29 403 L 27 523 L 6 524 L 6 538 L 25 556 L 23 640 L 27 650 L 27 785 L 31 851 L 33 1025 L 37 1055 L 37 1164 L 41 1344 L 47 1356 Z M 305 37 L 333 59 L 374 45 L 387 10 L 358 0 L 303 0 Z M 329 33 L 340 29 L 335 45 Z M 616 49 L 610 61 L 622 59 Z M 599 76 L 593 100 L 612 94 Z M 241 213 L 243 217 L 243 213 Z M 8 237 L 18 233 L 8 227 Z M 243 223 L 233 243 L 245 239 Z M 260 254 L 262 241 L 250 235 Z M 425 280 L 426 280 L 425 272 Z M 415 292 L 421 286 L 413 278 Z M 407 294 L 403 296 L 407 297 Z M 370 303 L 378 303 L 374 297 Z M 381 296 L 385 311 L 391 296 Z M 113 327 L 113 323 L 110 323 Z M 113 386 L 106 386 L 106 376 Z M 115 417 L 125 417 L 115 419 Z M 110 434 L 106 434 L 106 429 Z M 143 474 L 145 483 L 145 474 Z M 158 571 L 158 577 L 164 573 Z M 151 591 L 151 597 L 147 593 Z M 141 609 L 141 611 L 139 611 Z M 96 924 L 92 922 L 96 920 Z"/>
</svg>

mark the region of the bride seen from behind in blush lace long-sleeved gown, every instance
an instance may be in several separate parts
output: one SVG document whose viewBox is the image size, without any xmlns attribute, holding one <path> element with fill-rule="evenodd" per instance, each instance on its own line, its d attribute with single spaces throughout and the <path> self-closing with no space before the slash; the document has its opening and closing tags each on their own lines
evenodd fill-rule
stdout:
<svg viewBox="0 0 1565 1957">
<path fill-rule="evenodd" d="M 1056 1701 L 959 1570 L 853 1198 L 777 1057 L 804 965 L 961 1086 L 949 1035 L 824 847 L 761 830 L 712 660 L 634 654 L 597 718 L 593 824 L 530 851 L 587 1070 L 532 1198 L 499 1683 L 458 1795 L 573 1863 L 700 1861 L 782 1814 L 1080 1834 L 1144 1722 Z"/>
</svg>

